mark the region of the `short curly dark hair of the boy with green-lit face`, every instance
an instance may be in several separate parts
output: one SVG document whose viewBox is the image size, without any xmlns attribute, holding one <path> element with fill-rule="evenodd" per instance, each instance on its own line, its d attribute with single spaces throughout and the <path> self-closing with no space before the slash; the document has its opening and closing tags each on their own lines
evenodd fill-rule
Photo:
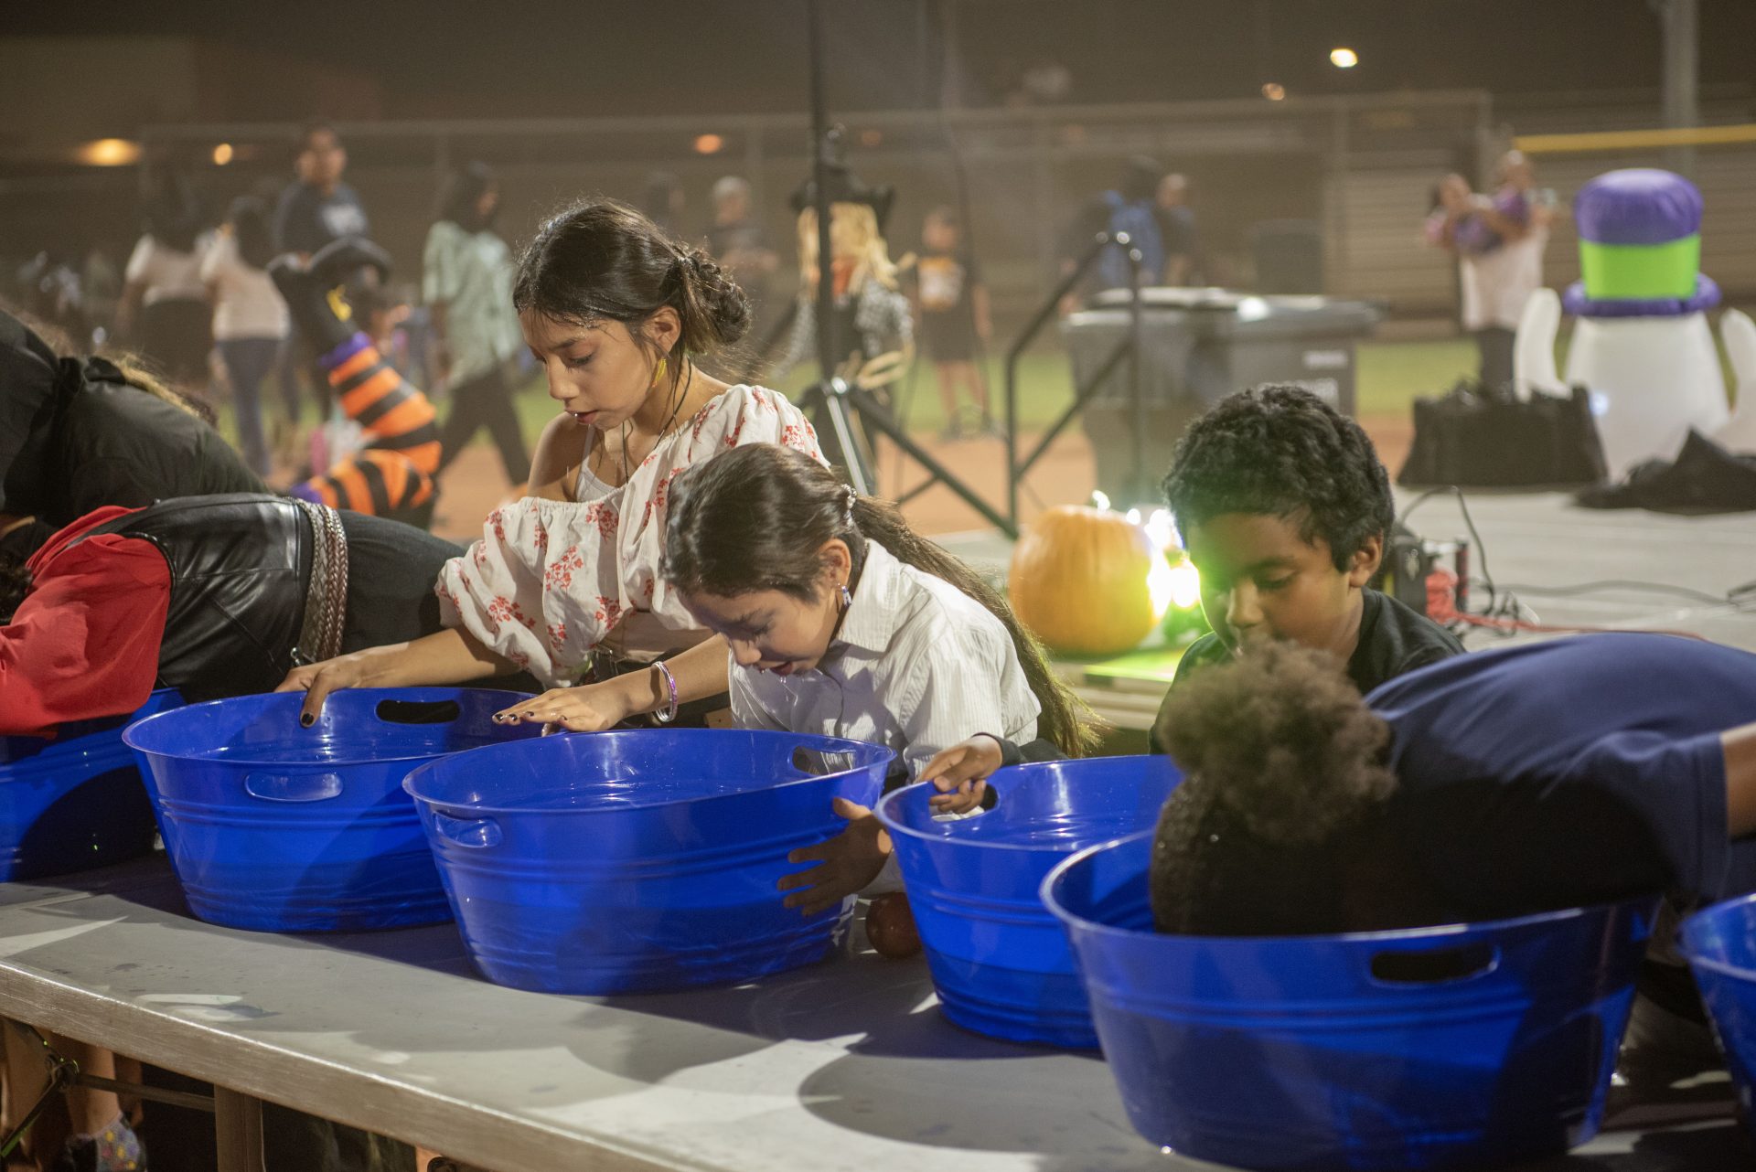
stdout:
<svg viewBox="0 0 1756 1172">
<path fill-rule="evenodd" d="M 1177 440 L 1164 498 L 1189 525 L 1257 512 L 1299 525 L 1345 570 L 1394 521 L 1391 477 L 1357 423 L 1310 391 L 1266 382 L 1227 395 Z"/>
</svg>

